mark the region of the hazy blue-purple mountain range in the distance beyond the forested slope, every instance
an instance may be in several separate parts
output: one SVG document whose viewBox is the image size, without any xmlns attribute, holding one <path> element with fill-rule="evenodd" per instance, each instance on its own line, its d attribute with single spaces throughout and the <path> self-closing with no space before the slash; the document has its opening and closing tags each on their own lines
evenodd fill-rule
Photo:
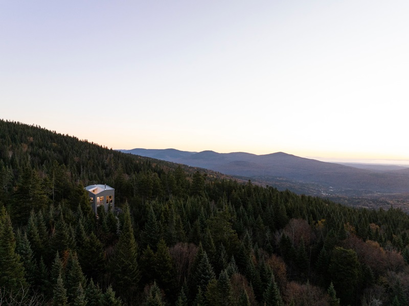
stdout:
<svg viewBox="0 0 409 306">
<path fill-rule="evenodd" d="M 299 193 L 325 196 L 409 193 L 409 168 L 398 166 L 338 164 L 283 152 L 256 155 L 175 149 L 119 151 L 246 177 Z"/>
</svg>

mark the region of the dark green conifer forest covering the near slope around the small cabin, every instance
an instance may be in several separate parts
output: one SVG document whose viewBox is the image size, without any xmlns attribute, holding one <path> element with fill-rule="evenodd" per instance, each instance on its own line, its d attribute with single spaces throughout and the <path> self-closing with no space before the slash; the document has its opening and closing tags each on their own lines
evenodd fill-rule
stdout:
<svg viewBox="0 0 409 306">
<path fill-rule="evenodd" d="M 115 188 L 98 218 L 84 187 Z M 0 121 L 1 305 L 407 305 L 409 216 Z"/>
</svg>

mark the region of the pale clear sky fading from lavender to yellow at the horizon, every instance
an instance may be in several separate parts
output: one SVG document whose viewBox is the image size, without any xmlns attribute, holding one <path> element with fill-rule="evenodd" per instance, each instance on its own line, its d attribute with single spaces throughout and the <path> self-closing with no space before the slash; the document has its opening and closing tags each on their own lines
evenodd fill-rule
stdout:
<svg viewBox="0 0 409 306">
<path fill-rule="evenodd" d="M 0 118 L 113 149 L 409 163 L 408 12 L 0 0 Z"/>
</svg>

